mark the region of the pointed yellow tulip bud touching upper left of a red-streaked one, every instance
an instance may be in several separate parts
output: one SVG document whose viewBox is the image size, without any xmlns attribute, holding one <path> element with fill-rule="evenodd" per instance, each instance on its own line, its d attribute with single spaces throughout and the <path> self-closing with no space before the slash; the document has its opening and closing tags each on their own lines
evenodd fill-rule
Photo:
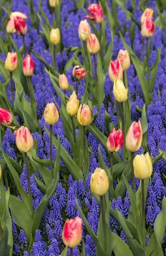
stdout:
<svg viewBox="0 0 166 256">
<path fill-rule="evenodd" d="M 75 91 L 72 93 L 72 95 L 69 98 L 69 101 L 66 105 L 66 112 L 69 116 L 74 116 L 77 114 L 79 108 L 79 100 L 77 99 L 77 95 L 75 94 Z"/>
</svg>

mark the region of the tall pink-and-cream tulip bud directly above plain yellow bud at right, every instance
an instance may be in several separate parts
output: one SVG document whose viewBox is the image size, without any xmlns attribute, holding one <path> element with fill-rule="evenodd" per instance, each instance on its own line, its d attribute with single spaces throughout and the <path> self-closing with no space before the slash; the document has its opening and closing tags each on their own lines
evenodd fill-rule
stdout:
<svg viewBox="0 0 166 256">
<path fill-rule="evenodd" d="M 137 151 L 142 144 L 142 127 L 140 120 L 133 122 L 126 135 L 126 148 L 131 152 Z"/>
</svg>

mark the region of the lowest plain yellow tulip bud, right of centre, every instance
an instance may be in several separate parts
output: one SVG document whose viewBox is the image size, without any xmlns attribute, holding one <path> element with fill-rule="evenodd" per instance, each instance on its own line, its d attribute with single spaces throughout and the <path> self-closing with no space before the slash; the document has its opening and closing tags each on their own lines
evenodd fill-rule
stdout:
<svg viewBox="0 0 166 256">
<path fill-rule="evenodd" d="M 90 187 L 95 195 L 104 195 L 109 190 L 109 178 L 106 171 L 101 168 L 96 168 L 91 175 Z"/>
</svg>

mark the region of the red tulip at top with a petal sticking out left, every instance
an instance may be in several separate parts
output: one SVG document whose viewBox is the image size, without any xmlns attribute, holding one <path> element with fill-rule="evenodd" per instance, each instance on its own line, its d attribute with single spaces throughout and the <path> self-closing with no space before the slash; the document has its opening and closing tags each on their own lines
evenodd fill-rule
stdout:
<svg viewBox="0 0 166 256">
<path fill-rule="evenodd" d="M 100 24 L 103 21 L 103 9 L 95 3 L 89 4 L 88 10 L 90 15 L 84 16 L 87 19 L 94 20 L 96 23 Z"/>
</svg>

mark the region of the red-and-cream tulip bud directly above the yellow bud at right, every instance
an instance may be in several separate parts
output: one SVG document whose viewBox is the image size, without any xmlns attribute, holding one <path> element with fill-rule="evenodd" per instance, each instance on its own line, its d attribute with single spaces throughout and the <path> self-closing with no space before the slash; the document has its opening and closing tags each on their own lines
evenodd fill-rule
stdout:
<svg viewBox="0 0 166 256">
<path fill-rule="evenodd" d="M 123 67 L 120 61 L 111 61 L 109 64 L 109 78 L 112 82 L 117 79 L 123 79 Z"/>
</svg>

